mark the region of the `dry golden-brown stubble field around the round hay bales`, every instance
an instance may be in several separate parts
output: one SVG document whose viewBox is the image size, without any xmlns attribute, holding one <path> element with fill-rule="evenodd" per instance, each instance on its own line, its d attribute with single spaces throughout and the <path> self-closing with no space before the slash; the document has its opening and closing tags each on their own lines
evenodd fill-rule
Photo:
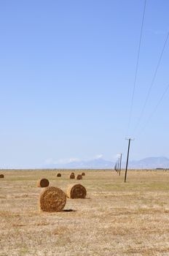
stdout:
<svg viewBox="0 0 169 256">
<path fill-rule="evenodd" d="M 112 170 L 1 170 L 0 256 L 169 255 L 169 172 Z M 74 170 L 75 175 L 82 170 Z M 67 199 L 66 210 L 42 213 L 36 181 L 66 191 L 80 183 L 86 199 Z"/>
</svg>

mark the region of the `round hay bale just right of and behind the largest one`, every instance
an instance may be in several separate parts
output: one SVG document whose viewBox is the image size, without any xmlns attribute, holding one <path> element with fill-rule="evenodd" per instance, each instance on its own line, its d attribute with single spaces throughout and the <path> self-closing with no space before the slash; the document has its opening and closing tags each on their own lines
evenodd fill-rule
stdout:
<svg viewBox="0 0 169 256">
<path fill-rule="evenodd" d="M 86 194 L 86 189 L 81 184 L 70 185 L 66 190 L 67 197 L 72 199 L 85 198 Z"/>
</svg>

